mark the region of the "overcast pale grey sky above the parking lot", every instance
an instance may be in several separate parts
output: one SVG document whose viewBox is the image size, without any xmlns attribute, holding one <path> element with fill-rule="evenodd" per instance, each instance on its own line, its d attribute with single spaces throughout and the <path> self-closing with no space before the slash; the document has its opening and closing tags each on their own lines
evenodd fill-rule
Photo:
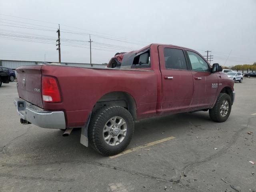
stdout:
<svg viewBox="0 0 256 192">
<path fill-rule="evenodd" d="M 0 0 L 0 60 L 108 63 L 151 43 L 209 50 L 222 66 L 256 62 L 256 0 Z"/>
</svg>

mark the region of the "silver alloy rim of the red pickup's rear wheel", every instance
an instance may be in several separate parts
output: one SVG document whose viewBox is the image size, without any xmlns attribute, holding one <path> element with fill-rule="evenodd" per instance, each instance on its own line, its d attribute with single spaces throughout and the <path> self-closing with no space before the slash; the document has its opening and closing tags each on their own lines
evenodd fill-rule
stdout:
<svg viewBox="0 0 256 192">
<path fill-rule="evenodd" d="M 103 138 L 106 144 L 116 146 L 120 144 L 127 133 L 127 124 L 122 117 L 112 117 L 107 121 L 103 129 Z"/>
</svg>

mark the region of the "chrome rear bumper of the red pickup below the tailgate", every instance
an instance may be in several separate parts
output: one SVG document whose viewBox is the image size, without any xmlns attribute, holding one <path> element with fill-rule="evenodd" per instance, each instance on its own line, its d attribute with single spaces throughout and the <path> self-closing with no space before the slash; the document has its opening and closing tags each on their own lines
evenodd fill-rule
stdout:
<svg viewBox="0 0 256 192">
<path fill-rule="evenodd" d="M 21 98 L 14 99 L 14 105 L 20 118 L 38 127 L 51 129 L 66 129 L 63 111 L 45 111 Z"/>
</svg>

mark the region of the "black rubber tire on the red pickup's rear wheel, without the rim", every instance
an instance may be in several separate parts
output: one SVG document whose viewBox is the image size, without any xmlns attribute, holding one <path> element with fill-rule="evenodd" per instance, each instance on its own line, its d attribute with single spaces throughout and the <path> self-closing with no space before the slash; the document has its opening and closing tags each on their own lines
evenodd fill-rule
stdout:
<svg viewBox="0 0 256 192">
<path fill-rule="evenodd" d="M 115 116 L 124 119 L 127 125 L 127 132 L 122 142 L 115 146 L 110 146 L 104 140 L 103 130 L 105 124 Z M 90 145 L 100 154 L 105 156 L 112 156 L 122 152 L 130 143 L 133 133 L 134 122 L 132 115 L 128 110 L 120 106 L 107 106 L 97 110 L 92 114 L 88 127 L 88 139 Z"/>
</svg>

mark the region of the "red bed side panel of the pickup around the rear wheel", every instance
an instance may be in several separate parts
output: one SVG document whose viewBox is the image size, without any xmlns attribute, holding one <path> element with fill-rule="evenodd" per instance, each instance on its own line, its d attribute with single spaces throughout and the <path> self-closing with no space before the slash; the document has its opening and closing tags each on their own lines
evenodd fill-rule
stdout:
<svg viewBox="0 0 256 192">
<path fill-rule="evenodd" d="M 96 102 L 109 92 L 130 94 L 136 102 L 137 118 L 156 113 L 154 71 L 42 66 L 42 74 L 56 77 L 62 94 L 62 103 L 44 103 L 44 109 L 64 110 L 67 127 L 83 126 Z"/>
</svg>

